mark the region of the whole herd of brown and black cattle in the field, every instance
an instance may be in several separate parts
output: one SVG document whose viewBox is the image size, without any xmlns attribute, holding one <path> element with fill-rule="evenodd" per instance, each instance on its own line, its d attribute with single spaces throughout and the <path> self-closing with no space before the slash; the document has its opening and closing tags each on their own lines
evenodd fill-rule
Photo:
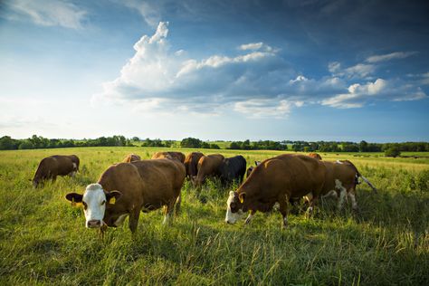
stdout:
<svg viewBox="0 0 429 286">
<path fill-rule="evenodd" d="M 75 176 L 80 160 L 75 155 L 45 157 L 33 177 L 33 186 L 57 176 Z M 329 162 L 319 154 L 309 156 L 285 154 L 255 162 L 247 169 L 243 156 L 227 157 L 220 154 L 205 156 L 192 152 L 157 152 L 151 159 L 141 160 L 130 154 L 119 164 L 104 171 L 97 183 L 86 187 L 83 194 L 70 193 L 66 199 L 72 205 L 83 205 L 86 227 L 99 228 L 101 234 L 107 226 L 117 227 L 129 216 L 129 229 L 136 232 L 140 212 L 165 207 L 164 223 L 171 222 L 173 212 L 180 210 L 181 188 L 187 178 L 197 189 L 209 176 L 216 176 L 223 185 L 234 181 L 242 183 L 231 191 L 227 199 L 225 222 L 234 224 L 249 213 L 245 224 L 251 222 L 257 212 L 269 212 L 274 205 L 282 215 L 282 226 L 287 225 L 291 203 L 305 198 L 308 213 L 318 199 L 335 196 L 338 209 L 345 199 L 351 200 L 352 208 L 358 209 L 356 186 L 361 177 L 377 192 L 365 176 L 348 160 Z"/>
</svg>

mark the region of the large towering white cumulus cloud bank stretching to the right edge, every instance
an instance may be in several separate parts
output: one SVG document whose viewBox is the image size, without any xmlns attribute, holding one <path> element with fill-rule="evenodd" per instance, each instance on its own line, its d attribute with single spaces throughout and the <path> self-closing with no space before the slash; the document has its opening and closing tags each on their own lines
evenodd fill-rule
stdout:
<svg viewBox="0 0 429 286">
<path fill-rule="evenodd" d="M 310 104 L 344 109 L 376 100 L 426 98 L 416 83 L 372 80 L 376 64 L 343 68 L 340 62 L 329 62 L 331 74 L 315 79 L 294 71 L 280 50 L 266 43 L 244 43 L 232 47 L 234 55 L 198 59 L 174 49 L 168 33 L 168 23 L 160 22 L 153 35 L 143 35 L 119 77 L 105 82 L 92 101 L 130 104 L 131 110 L 145 113 L 219 115 L 233 110 L 256 118 L 281 118 Z"/>
</svg>

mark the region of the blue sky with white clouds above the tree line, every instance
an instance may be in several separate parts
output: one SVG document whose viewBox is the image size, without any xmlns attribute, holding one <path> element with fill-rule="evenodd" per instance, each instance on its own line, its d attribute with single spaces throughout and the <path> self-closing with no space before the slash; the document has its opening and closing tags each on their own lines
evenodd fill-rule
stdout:
<svg viewBox="0 0 429 286">
<path fill-rule="evenodd" d="M 428 141 L 425 1 L 0 4 L 0 135 Z"/>
</svg>

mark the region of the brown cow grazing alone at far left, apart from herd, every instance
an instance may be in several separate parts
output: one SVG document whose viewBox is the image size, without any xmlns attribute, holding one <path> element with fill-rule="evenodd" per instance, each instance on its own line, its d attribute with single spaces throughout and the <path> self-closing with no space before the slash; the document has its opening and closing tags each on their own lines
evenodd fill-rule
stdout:
<svg viewBox="0 0 429 286">
<path fill-rule="evenodd" d="M 79 157 L 76 155 L 54 155 L 40 161 L 33 177 L 33 187 L 43 184 L 44 180 L 56 180 L 57 176 L 74 176 L 79 170 Z"/>
</svg>

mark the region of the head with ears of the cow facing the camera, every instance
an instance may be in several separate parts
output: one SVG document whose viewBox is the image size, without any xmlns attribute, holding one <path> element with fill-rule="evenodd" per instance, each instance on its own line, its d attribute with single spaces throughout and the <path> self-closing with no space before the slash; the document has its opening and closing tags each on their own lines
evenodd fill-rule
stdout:
<svg viewBox="0 0 429 286">
<path fill-rule="evenodd" d="M 83 205 L 86 227 L 99 228 L 104 224 L 106 205 L 114 205 L 121 195 L 118 191 L 106 192 L 100 184 L 91 184 L 86 187 L 83 195 L 70 193 L 65 198 L 71 201 L 71 204 L 81 203 Z"/>
</svg>

